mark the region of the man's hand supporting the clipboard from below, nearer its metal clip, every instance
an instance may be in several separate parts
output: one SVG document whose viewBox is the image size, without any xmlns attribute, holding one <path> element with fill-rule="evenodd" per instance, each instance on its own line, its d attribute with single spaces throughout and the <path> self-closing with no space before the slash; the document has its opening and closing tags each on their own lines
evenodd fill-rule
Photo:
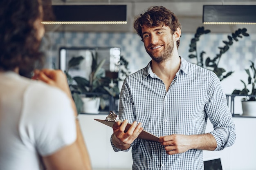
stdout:
<svg viewBox="0 0 256 170">
<path fill-rule="evenodd" d="M 132 144 L 143 130 L 141 123 L 137 124 L 137 121 L 134 121 L 130 128 L 125 131 L 127 124 L 128 120 L 126 119 L 123 123 L 118 121 L 113 125 L 114 134 L 112 142 L 117 148 L 123 150 L 130 148 L 130 144 Z"/>
</svg>

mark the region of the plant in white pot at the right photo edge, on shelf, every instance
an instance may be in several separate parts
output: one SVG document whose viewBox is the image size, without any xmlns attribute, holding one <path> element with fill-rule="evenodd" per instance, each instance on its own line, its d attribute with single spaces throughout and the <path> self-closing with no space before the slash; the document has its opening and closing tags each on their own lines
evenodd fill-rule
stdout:
<svg viewBox="0 0 256 170">
<path fill-rule="evenodd" d="M 232 94 L 245 95 L 245 98 L 242 99 L 243 115 L 256 116 L 256 68 L 254 62 L 250 62 L 250 69 L 245 69 L 248 75 L 248 83 L 240 80 L 244 84 L 244 88 L 242 90 L 234 90 Z M 250 86 L 251 90 L 248 89 L 248 86 Z"/>
</svg>

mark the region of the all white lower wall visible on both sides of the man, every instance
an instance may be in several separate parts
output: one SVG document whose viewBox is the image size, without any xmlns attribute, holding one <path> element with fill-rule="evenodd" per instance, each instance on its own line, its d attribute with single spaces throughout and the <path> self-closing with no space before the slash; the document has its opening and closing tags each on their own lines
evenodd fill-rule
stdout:
<svg viewBox="0 0 256 170">
<path fill-rule="evenodd" d="M 107 115 L 79 115 L 85 143 L 91 157 L 92 167 L 96 169 L 132 168 L 131 152 L 114 152 L 110 145 L 112 128 L 94 119 L 106 119 Z M 204 159 L 221 158 L 224 170 L 256 169 L 256 118 L 234 117 L 236 142 L 222 151 L 204 151 Z M 209 122 L 209 121 L 208 121 Z M 213 128 L 207 124 L 206 132 Z"/>
</svg>

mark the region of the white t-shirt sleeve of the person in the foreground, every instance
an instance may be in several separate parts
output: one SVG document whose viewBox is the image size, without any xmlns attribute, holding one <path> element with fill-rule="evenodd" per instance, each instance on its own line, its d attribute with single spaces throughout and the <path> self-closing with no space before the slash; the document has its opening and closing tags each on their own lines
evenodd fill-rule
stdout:
<svg viewBox="0 0 256 170">
<path fill-rule="evenodd" d="M 24 98 L 24 135 L 40 155 L 51 155 L 76 140 L 74 111 L 65 93 L 42 83 L 30 86 Z"/>
</svg>

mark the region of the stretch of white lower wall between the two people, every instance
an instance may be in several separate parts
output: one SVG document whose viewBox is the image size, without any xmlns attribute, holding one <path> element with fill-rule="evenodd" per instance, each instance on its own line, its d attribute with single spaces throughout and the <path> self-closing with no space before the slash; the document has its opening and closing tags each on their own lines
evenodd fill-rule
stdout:
<svg viewBox="0 0 256 170">
<path fill-rule="evenodd" d="M 131 152 L 115 152 L 110 144 L 112 128 L 94 119 L 106 119 L 107 115 L 79 115 L 79 122 L 94 169 L 132 168 Z"/>
</svg>

